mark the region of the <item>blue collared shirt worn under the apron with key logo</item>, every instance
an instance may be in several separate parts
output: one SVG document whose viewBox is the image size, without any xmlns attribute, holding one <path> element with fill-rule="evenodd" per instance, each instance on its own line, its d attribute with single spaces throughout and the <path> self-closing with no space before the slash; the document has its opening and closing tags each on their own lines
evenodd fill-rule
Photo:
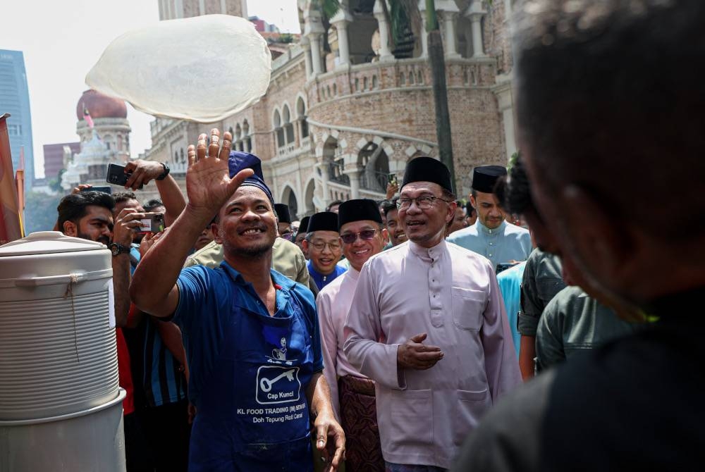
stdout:
<svg viewBox="0 0 705 472">
<path fill-rule="evenodd" d="M 228 276 L 226 271 L 231 276 Z M 282 318 L 291 316 L 293 306 L 288 301 L 291 297 L 298 300 L 304 311 L 307 330 L 312 340 L 314 371 L 321 371 L 323 354 L 312 292 L 273 269 L 271 278 L 277 287 L 281 287 L 280 290 L 276 290 L 277 311 L 274 316 Z M 245 306 L 250 311 L 266 316 L 269 316 L 269 313 L 252 284 L 245 282 L 243 276 L 225 261 L 216 269 L 204 266 L 185 268 L 181 271 L 177 283 L 179 301 L 173 321 L 182 330 L 188 356 L 190 368 L 188 397 L 193 404 L 197 405 L 204 380 L 208 378 L 221 352 L 224 334 L 231 317 L 233 299 L 237 297 L 240 306 Z"/>
</svg>

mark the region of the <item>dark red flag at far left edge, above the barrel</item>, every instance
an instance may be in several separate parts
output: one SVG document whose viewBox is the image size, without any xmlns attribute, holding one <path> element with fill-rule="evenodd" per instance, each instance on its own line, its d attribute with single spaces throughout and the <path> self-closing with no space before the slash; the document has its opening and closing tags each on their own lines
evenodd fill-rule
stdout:
<svg viewBox="0 0 705 472">
<path fill-rule="evenodd" d="M 0 244 L 22 237 L 20 206 L 17 201 L 15 173 L 12 171 L 10 137 L 6 120 L 10 116 L 0 116 Z"/>
</svg>

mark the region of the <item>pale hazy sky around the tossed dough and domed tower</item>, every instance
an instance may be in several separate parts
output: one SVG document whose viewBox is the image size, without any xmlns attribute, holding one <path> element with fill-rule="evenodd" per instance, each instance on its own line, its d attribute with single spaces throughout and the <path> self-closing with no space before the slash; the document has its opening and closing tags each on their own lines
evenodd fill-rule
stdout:
<svg viewBox="0 0 705 472">
<path fill-rule="evenodd" d="M 113 39 L 157 22 L 158 5 L 157 0 L 2 2 L 0 49 L 25 56 L 37 177 L 44 175 L 44 144 L 78 141 L 76 104 L 88 88 L 86 73 Z M 282 31 L 299 32 L 296 0 L 247 0 L 247 13 Z M 152 116 L 128 104 L 128 120 L 130 149 L 137 157 L 152 146 Z"/>
</svg>

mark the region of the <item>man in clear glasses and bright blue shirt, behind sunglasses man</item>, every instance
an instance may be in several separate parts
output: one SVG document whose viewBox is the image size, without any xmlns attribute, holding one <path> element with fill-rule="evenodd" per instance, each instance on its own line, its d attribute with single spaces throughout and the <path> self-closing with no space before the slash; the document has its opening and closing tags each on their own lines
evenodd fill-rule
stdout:
<svg viewBox="0 0 705 472">
<path fill-rule="evenodd" d="M 348 270 L 338 266 L 343 250 L 338 234 L 337 213 L 321 211 L 311 216 L 306 239 L 303 240 L 303 247 L 309 255 L 307 263 L 309 274 L 316 282 L 318 290 Z"/>
</svg>

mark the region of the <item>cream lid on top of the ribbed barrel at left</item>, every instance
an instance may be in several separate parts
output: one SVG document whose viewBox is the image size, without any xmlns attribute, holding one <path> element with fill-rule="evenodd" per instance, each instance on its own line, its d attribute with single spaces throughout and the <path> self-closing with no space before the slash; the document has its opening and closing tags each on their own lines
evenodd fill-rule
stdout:
<svg viewBox="0 0 705 472">
<path fill-rule="evenodd" d="M 32 232 L 31 235 L 23 237 L 21 240 L 8 242 L 0 246 L 0 257 L 94 251 L 96 249 L 107 249 L 107 247 L 102 242 L 66 236 L 59 231 L 39 231 Z"/>
</svg>

